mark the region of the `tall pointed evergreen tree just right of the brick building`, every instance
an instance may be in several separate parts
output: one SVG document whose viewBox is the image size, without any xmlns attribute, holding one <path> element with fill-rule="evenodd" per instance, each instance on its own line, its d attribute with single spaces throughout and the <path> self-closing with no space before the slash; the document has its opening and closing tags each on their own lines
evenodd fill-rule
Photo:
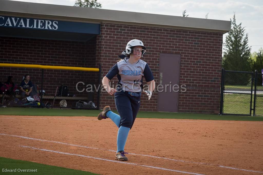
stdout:
<svg viewBox="0 0 263 175">
<path fill-rule="evenodd" d="M 251 71 L 251 47 L 248 45 L 248 34 L 245 34 L 245 29 L 241 26 L 242 23 L 236 24 L 235 14 L 230 21 L 231 30 L 226 36 L 224 43 L 225 60 L 223 61 L 222 66 L 225 70 Z M 247 85 L 251 79 L 248 74 L 233 74 L 233 76 L 235 78 L 226 77 L 226 84 Z"/>
</svg>

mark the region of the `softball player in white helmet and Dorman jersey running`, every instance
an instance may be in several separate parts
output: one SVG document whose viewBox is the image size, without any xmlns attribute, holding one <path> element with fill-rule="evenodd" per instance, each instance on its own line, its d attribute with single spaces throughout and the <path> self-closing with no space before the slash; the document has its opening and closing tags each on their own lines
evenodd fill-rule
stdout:
<svg viewBox="0 0 263 175">
<path fill-rule="evenodd" d="M 140 108 L 140 97 L 142 91 L 142 78 L 144 77 L 148 90 L 143 91 L 150 100 L 155 88 L 155 81 L 149 65 L 141 60 L 146 53 L 146 48 L 138 39 L 130 40 L 126 46 L 125 52 L 119 57 L 122 58 L 115 64 L 102 79 L 104 88 L 110 95 L 115 95 L 115 105 L 120 115 L 110 110 L 110 106 L 105 106 L 99 113 L 98 120 L 110 118 L 119 128 L 117 136 L 117 153 L 115 159 L 127 161 L 128 158 L 124 152 L 124 146 L 136 115 Z M 109 86 L 109 81 L 117 75 L 119 80 L 118 88 Z"/>
</svg>

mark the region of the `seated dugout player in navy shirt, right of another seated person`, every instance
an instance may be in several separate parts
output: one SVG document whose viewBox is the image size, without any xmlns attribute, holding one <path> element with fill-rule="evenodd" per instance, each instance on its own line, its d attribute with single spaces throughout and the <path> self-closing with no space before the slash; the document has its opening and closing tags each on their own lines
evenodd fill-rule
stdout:
<svg viewBox="0 0 263 175">
<path fill-rule="evenodd" d="M 30 81 L 30 76 L 26 74 L 20 84 L 21 97 L 34 96 L 37 94 L 36 86 Z"/>
</svg>

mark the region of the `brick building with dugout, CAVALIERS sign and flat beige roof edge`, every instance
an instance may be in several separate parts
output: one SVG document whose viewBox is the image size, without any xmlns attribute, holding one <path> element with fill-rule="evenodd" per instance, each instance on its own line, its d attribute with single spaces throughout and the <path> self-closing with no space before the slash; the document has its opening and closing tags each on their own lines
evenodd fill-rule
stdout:
<svg viewBox="0 0 263 175">
<path fill-rule="evenodd" d="M 174 87 L 179 87 L 179 92 L 154 92 L 150 101 L 143 95 L 141 111 L 219 113 L 222 37 L 230 30 L 230 21 L 6 0 L 0 3 L 0 63 L 94 68 L 100 64 L 102 79 L 127 42 L 140 39 L 147 48 L 143 60 L 149 64 L 156 86 L 166 84 L 168 90 L 176 84 Z M 40 84 L 41 70 L 0 70 L 0 81 L 12 75 L 20 83 L 23 74 L 29 73 L 35 84 Z M 117 78 L 113 80 L 116 85 Z M 71 93 L 85 96 L 85 91 L 76 91 L 79 81 L 98 84 L 98 73 L 46 70 L 43 88 L 54 94 L 55 86 L 67 84 Z M 102 92 L 100 108 L 105 105 L 115 106 L 114 97 Z"/>
</svg>

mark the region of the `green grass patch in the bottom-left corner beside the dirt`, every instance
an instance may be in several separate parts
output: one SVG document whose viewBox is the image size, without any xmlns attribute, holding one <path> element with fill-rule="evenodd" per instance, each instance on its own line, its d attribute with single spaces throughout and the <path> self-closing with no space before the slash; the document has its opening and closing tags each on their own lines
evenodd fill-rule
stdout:
<svg viewBox="0 0 263 175">
<path fill-rule="evenodd" d="M 16 172 L 3 172 L 3 169 L 17 169 Z M 37 169 L 37 172 L 18 172 L 18 169 Z M 15 160 L 10 158 L 0 157 L 0 174 L 80 174 L 93 175 L 87 171 L 80 171 L 75 169 L 68 169 L 63 167 L 56 167 L 44 165 L 40 163 Z"/>
</svg>

